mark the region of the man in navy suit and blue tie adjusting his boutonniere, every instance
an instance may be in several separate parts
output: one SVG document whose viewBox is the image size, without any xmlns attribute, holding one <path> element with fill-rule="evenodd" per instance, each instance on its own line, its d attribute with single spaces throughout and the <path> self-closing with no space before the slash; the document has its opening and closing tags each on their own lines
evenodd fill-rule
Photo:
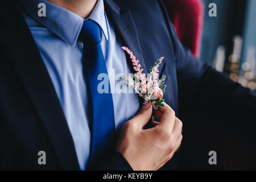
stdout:
<svg viewBox="0 0 256 182">
<path fill-rule="evenodd" d="M 255 117 L 255 96 L 191 55 L 160 1 L 31 0 L 1 7 L 1 169 L 159 169 L 175 161 L 183 138 L 178 94 L 181 104 L 196 94 L 210 102 L 238 97 L 236 106 L 247 106 L 241 115 Z M 144 71 L 164 56 L 166 104 L 151 129 L 143 126 L 152 107 L 136 94 L 96 91 L 98 73 L 132 72 L 121 46 Z"/>
</svg>

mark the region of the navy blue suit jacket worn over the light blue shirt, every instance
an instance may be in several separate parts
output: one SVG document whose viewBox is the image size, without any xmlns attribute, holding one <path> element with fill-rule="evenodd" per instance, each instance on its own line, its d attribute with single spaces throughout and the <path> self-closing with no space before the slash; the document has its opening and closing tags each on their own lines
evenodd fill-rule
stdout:
<svg viewBox="0 0 256 182">
<path fill-rule="evenodd" d="M 134 52 L 145 71 L 164 56 L 159 67 L 160 76 L 167 76 L 164 99 L 176 113 L 180 103 L 197 115 L 230 115 L 232 122 L 235 118 L 240 124 L 247 122 L 246 126 L 253 126 L 255 96 L 193 57 L 181 45 L 162 2 L 104 3 L 123 46 Z M 22 9 L 14 0 L 1 1 L 0 9 L 0 169 L 79 169 L 67 122 Z M 193 110 L 197 105 L 203 109 Z M 190 120 L 193 122 L 193 118 Z M 253 134 L 251 128 L 246 127 L 247 133 Z M 188 130 L 185 123 L 184 130 Z M 38 164 L 41 150 L 46 151 L 46 165 Z M 118 153 L 104 158 L 105 162 L 92 169 L 131 169 Z M 175 159 L 170 163 L 177 167 Z"/>
</svg>

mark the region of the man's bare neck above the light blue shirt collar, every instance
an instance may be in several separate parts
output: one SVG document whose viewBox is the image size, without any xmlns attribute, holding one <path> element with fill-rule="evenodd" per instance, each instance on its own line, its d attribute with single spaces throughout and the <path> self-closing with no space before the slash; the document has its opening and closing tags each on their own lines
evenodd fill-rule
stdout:
<svg viewBox="0 0 256 182">
<path fill-rule="evenodd" d="M 63 7 L 82 18 L 87 18 L 98 0 L 47 0 L 57 6 Z"/>
</svg>

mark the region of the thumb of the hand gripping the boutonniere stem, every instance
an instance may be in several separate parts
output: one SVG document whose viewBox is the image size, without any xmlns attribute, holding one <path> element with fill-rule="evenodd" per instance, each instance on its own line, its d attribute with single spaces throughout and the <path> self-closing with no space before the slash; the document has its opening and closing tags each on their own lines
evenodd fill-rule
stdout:
<svg viewBox="0 0 256 182">
<path fill-rule="evenodd" d="M 136 122 L 139 126 L 143 127 L 150 120 L 151 114 L 152 114 L 152 105 L 150 102 L 147 102 L 146 104 L 143 104 L 141 110 L 137 115 L 135 115 L 131 119 L 131 122 Z"/>
</svg>

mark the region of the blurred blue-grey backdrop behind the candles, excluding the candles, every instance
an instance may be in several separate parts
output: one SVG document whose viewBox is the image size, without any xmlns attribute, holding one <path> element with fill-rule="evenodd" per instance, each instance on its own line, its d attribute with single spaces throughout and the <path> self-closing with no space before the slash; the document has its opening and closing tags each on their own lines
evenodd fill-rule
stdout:
<svg viewBox="0 0 256 182">
<path fill-rule="evenodd" d="M 256 49 L 256 1 L 255 0 L 202 0 L 204 3 L 204 26 L 201 42 L 200 59 L 213 65 L 218 46 L 224 46 L 225 69 L 229 75 L 228 57 L 233 52 L 233 38 L 242 38 L 241 59 L 239 60 L 238 76 L 243 76 L 242 64 L 247 60 L 249 47 Z M 208 15 L 209 3 L 216 3 L 217 17 Z M 254 58 L 256 55 L 254 55 Z M 255 60 L 254 60 L 255 62 Z M 254 80 L 256 67 L 254 68 Z M 236 80 L 238 81 L 238 80 Z M 240 82 L 240 81 L 238 81 Z M 242 84 L 246 86 L 246 84 Z M 256 88 L 252 89 L 256 94 Z"/>
</svg>

